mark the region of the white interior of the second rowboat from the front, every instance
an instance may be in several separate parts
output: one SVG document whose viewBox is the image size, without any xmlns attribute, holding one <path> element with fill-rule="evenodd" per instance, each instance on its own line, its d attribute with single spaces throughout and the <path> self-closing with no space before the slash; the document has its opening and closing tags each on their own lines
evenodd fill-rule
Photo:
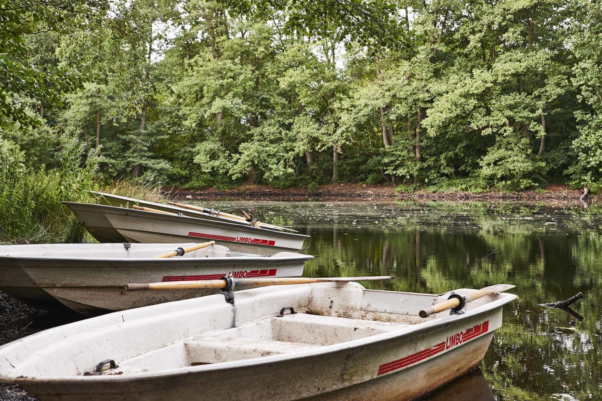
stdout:
<svg viewBox="0 0 602 401">
<path fill-rule="evenodd" d="M 196 245 L 191 243 L 44 243 L 37 245 L 0 245 L 0 257 L 48 258 L 152 258 L 163 253 Z M 222 245 L 211 245 L 185 253 L 180 258 L 199 257 L 269 257 L 269 255 L 235 252 Z"/>
</svg>

